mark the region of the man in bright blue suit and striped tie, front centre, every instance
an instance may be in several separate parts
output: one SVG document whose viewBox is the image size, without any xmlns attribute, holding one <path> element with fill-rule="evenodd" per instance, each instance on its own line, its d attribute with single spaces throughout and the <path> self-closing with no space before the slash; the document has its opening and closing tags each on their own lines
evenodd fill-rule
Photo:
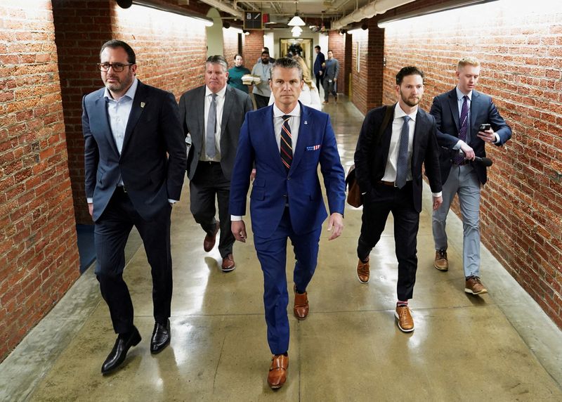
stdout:
<svg viewBox="0 0 562 402">
<path fill-rule="evenodd" d="M 240 142 L 230 185 L 230 214 L 236 240 L 245 242 L 246 195 L 255 164 L 250 213 L 254 246 L 264 276 L 263 303 L 266 309 L 268 343 L 273 354 L 268 374 L 271 388 L 287 379 L 289 320 L 285 264 L 287 238 L 291 239 L 294 266 L 294 315 L 308 315 L 306 288 L 318 259 L 318 241 L 327 213 L 318 178 L 324 178 L 329 206 L 329 240 L 344 227 L 344 169 L 329 115 L 299 102 L 303 72 L 289 58 L 275 61 L 270 87 L 275 103 L 249 112 L 240 131 Z"/>
</svg>

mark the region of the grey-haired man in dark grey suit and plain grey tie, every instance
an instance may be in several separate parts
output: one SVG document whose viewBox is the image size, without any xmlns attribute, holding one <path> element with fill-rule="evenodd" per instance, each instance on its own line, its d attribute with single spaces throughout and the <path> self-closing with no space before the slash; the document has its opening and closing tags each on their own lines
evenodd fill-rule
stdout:
<svg viewBox="0 0 562 402">
<path fill-rule="evenodd" d="M 179 103 L 183 134 L 190 136 L 188 155 L 190 210 L 205 233 L 203 249 L 210 252 L 221 230 L 218 252 L 223 272 L 236 268 L 234 236 L 230 231 L 228 198 L 236 147 L 244 115 L 252 110 L 247 93 L 226 85 L 228 65 L 223 56 L 205 63 L 205 84 L 185 92 Z M 218 221 L 215 219 L 218 202 Z"/>
</svg>

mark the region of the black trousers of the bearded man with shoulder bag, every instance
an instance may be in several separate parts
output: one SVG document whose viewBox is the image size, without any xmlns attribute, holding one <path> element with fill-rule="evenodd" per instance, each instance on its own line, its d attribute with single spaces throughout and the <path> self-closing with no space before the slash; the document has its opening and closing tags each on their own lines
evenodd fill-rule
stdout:
<svg viewBox="0 0 562 402">
<path fill-rule="evenodd" d="M 394 242 L 398 259 L 398 300 L 412 299 L 417 270 L 419 212 L 414 208 L 412 182 L 402 189 L 377 183 L 365 197 L 357 255 L 365 260 L 384 231 L 388 214 L 394 218 Z"/>
</svg>

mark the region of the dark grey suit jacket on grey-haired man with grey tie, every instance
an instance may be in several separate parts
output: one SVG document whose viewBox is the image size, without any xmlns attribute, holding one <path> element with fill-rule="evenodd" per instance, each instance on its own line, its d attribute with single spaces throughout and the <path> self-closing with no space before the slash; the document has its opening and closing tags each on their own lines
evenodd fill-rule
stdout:
<svg viewBox="0 0 562 402">
<path fill-rule="evenodd" d="M 205 140 L 205 86 L 185 92 L 180 98 L 180 119 L 183 134 L 191 135 L 191 149 L 188 155 L 188 177 L 193 179 Z M 249 95 L 226 86 L 223 117 L 221 120 L 221 168 L 226 179 L 232 176 L 240 127 L 246 112 L 253 110 Z"/>
</svg>

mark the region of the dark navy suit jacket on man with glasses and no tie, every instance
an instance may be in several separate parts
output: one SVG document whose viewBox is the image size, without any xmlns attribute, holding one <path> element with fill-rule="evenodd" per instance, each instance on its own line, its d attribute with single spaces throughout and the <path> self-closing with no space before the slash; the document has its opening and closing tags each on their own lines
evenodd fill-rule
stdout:
<svg viewBox="0 0 562 402">
<path fill-rule="evenodd" d="M 180 199 L 185 177 L 185 142 L 176 98 L 138 81 L 119 155 L 104 90 L 82 99 L 84 179 L 86 197 L 93 197 L 93 220 L 103 214 L 121 176 L 136 211 L 149 221 L 169 199 Z"/>
</svg>

